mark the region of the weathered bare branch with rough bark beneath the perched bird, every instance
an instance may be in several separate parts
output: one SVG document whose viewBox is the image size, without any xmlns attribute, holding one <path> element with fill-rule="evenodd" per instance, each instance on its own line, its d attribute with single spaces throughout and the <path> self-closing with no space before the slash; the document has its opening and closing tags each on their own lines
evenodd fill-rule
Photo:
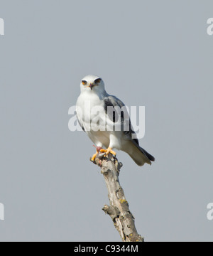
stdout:
<svg viewBox="0 0 213 256">
<path fill-rule="evenodd" d="M 138 235 L 135 219 L 129 210 L 129 203 L 126 201 L 124 190 L 119 182 L 119 173 L 123 165 L 111 154 L 108 157 L 99 154 L 94 164 L 101 167 L 108 189 L 110 206 L 105 205 L 103 210 L 111 217 L 122 241 L 144 242 L 141 235 Z"/>
</svg>

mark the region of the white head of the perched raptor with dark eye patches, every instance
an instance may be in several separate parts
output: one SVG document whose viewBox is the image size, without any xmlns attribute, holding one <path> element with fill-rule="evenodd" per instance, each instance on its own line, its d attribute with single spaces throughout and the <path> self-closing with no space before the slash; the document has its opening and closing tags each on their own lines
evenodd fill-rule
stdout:
<svg viewBox="0 0 213 256">
<path fill-rule="evenodd" d="M 87 75 L 81 81 L 81 91 L 97 93 L 98 95 L 105 95 L 104 81 L 96 75 Z"/>
</svg>

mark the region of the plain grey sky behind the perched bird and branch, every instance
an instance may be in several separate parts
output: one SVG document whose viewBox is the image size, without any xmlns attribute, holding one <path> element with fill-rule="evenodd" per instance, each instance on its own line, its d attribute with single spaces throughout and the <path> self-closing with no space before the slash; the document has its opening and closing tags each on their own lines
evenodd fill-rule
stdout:
<svg viewBox="0 0 213 256">
<path fill-rule="evenodd" d="M 212 241 L 212 1 L 0 0 L 0 241 L 120 241 L 94 147 L 70 132 L 80 80 L 146 106 L 123 186 L 146 241 Z"/>
</svg>

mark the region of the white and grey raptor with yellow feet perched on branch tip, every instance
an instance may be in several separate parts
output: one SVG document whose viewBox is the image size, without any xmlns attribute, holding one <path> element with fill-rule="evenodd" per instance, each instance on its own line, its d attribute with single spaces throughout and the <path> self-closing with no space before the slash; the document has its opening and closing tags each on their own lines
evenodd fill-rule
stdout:
<svg viewBox="0 0 213 256">
<path fill-rule="evenodd" d="M 80 91 L 76 103 L 77 120 L 97 149 L 91 161 L 94 162 L 100 152 L 105 153 L 105 156 L 116 156 L 115 149 L 129 154 L 138 166 L 151 165 L 152 161 L 155 161 L 155 158 L 139 145 L 130 117 L 124 114 L 126 106 L 119 98 L 106 92 L 102 78 L 87 75 L 80 82 Z M 124 111 L 111 112 L 110 107 L 114 108 L 113 110 L 119 107 Z M 113 127 L 118 122 L 121 129 L 107 129 L 106 121 Z M 100 123 L 103 123 L 102 127 L 99 126 Z"/>
</svg>

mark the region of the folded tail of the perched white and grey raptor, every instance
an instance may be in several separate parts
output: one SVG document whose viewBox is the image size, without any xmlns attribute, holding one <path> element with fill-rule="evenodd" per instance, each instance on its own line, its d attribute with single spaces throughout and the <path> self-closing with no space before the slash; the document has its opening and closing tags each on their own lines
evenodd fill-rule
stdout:
<svg viewBox="0 0 213 256">
<path fill-rule="evenodd" d="M 152 161 L 155 161 L 155 158 L 149 154 L 145 149 L 142 149 L 141 146 L 134 143 L 133 141 L 129 142 L 128 150 L 126 153 L 131 156 L 133 161 L 138 164 L 138 166 L 143 166 L 143 164 L 152 164 Z"/>
</svg>

